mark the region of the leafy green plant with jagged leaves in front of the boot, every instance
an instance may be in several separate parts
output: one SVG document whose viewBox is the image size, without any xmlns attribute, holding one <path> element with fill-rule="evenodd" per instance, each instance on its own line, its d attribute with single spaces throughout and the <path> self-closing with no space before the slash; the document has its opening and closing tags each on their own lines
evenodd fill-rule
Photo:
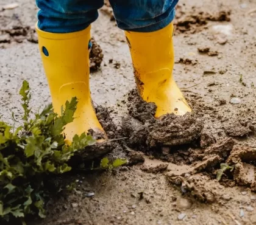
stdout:
<svg viewBox="0 0 256 225">
<path fill-rule="evenodd" d="M 70 145 L 65 142 L 63 130 L 74 120 L 75 97 L 65 103 L 61 116 L 53 111 L 52 105 L 30 115 L 31 95 L 27 81 L 23 81 L 20 95 L 23 125 L 15 129 L 0 121 L 0 220 L 5 221 L 13 216 L 44 218 L 46 180 L 70 171 L 67 162 L 73 154 L 95 143 L 85 133 L 74 136 Z"/>
</svg>

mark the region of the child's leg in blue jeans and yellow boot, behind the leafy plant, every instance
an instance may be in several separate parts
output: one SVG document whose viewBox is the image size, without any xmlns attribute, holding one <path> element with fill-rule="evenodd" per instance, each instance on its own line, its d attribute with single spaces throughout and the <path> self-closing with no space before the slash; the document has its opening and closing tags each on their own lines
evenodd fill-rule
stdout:
<svg viewBox="0 0 256 225">
<path fill-rule="evenodd" d="M 103 0 L 37 0 L 38 43 L 54 111 L 73 97 L 77 109 L 73 122 L 65 126 L 66 140 L 93 130 L 103 141 L 104 130 L 91 104 L 89 85 L 90 24 L 98 17 Z"/>
</svg>

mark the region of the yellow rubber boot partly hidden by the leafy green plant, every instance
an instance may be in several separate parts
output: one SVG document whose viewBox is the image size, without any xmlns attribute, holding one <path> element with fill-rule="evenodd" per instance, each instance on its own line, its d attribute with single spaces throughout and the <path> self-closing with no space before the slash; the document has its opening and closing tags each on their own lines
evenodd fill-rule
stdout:
<svg viewBox="0 0 256 225">
<path fill-rule="evenodd" d="M 66 141 L 70 143 L 75 134 L 80 135 L 90 129 L 102 133 L 102 137 L 106 138 L 91 104 L 88 50 L 90 27 L 74 33 L 48 33 L 37 27 L 37 33 L 54 111 L 60 114 L 61 106 L 65 106 L 67 100 L 77 97 L 75 119 L 64 130 Z"/>
</svg>

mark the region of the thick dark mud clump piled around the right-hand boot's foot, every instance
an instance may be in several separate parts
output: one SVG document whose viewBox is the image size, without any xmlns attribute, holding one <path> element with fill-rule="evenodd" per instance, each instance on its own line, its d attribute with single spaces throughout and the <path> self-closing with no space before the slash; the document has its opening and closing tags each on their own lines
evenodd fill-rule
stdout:
<svg viewBox="0 0 256 225">
<path fill-rule="evenodd" d="M 130 92 L 128 101 L 129 116 L 123 119 L 123 129 L 133 147 L 149 149 L 163 145 L 183 145 L 201 135 L 202 122 L 193 114 L 167 114 L 155 119 L 157 107 L 154 103 L 144 102 L 137 91 Z"/>
</svg>

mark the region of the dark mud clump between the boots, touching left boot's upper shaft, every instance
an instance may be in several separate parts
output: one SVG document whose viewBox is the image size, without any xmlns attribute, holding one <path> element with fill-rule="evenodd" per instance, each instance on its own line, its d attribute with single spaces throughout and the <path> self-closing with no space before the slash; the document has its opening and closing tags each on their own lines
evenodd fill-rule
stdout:
<svg viewBox="0 0 256 225">
<path fill-rule="evenodd" d="M 90 72 L 98 71 L 99 67 L 101 67 L 101 63 L 104 55 L 102 54 L 101 46 L 96 43 L 95 39 L 91 38 L 91 49 L 89 53 L 90 58 Z"/>
</svg>

